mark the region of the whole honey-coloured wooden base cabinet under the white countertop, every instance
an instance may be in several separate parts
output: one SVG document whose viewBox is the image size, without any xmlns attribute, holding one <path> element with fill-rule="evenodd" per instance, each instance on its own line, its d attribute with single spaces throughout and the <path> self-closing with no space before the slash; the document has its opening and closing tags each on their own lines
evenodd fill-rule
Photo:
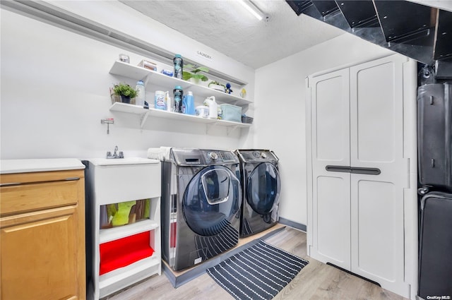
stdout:
<svg viewBox="0 0 452 300">
<path fill-rule="evenodd" d="M 83 169 L 0 178 L 1 300 L 85 299 Z"/>
</svg>

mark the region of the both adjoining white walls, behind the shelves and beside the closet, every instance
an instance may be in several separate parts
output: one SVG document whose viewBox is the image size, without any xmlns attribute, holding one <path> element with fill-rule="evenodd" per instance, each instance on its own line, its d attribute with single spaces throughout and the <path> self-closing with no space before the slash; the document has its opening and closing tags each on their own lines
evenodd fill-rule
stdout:
<svg viewBox="0 0 452 300">
<path fill-rule="evenodd" d="M 229 135 L 221 127 L 206 134 L 206 125 L 150 118 L 140 129 L 136 115 L 109 111 L 109 88 L 119 81 L 135 84 L 108 73 L 124 49 L 1 9 L 1 159 L 103 157 L 115 145 L 126 156 L 141 157 L 148 148 L 160 145 L 268 148 L 280 157 L 280 215 L 301 224 L 307 223 L 304 78 L 392 53 L 345 34 L 259 68 L 254 75 L 249 67 L 117 1 L 51 3 L 190 59 L 197 58 L 187 49 L 215 54 L 218 59 L 206 61 L 206 66 L 249 82 L 246 88 L 255 100 L 249 109 L 254 125 Z M 134 22 L 118 21 L 117 13 Z M 133 64 L 143 59 L 127 53 Z M 152 99 L 150 90 L 157 88 L 147 86 L 148 100 Z M 114 124 L 107 135 L 107 126 L 100 124 L 100 119 L 109 117 Z"/>
</svg>

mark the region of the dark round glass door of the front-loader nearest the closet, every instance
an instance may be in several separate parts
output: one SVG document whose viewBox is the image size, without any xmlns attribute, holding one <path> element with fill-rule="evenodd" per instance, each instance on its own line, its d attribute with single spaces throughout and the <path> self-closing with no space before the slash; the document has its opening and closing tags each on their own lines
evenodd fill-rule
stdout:
<svg viewBox="0 0 452 300">
<path fill-rule="evenodd" d="M 269 215 L 280 198 L 280 174 L 274 164 L 263 162 L 254 168 L 246 182 L 246 201 L 259 215 Z"/>
</svg>

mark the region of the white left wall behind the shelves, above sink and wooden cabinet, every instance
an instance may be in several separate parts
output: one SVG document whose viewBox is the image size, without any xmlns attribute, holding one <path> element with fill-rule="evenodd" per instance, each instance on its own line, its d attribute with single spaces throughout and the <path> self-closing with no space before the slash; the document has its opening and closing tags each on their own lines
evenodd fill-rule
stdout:
<svg viewBox="0 0 452 300">
<path fill-rule="evenodd" d="M 63 2 L 66 1 L 59 1 Z M 85 17 L 89 16 L 88 6 L 92 4 L 93 13 L 103 18 L 109 16 L 110 21 L 117 20 L 114 9 L 111 13 L 99 13 L 98 6 L 114 6 L 117 11 L 124 6 L 116 1 L 68 1 L 67 4 L 76 2 L 78 8 L 85 8 Z M 142 38 L 149 38 L 145 33 L 153 32 L 159 35 L 155 42 L 165 44 L 165 39 L 171 40 L 168 45 L 175 48 L 174 38 L 179 38 L 179 32 L 152 20 L 143 24 L 141 14 L 133 16 L 128 6 L 124 9 L 127 20 L 135 18 L 143 25 L 139 31 Z M 121 25 L 117 22 L 117 29 L 127 34 L 138 30 L 125 25 L 121 28 Z M 194 47 L 202 45 L 181 37 L 179 49 L 171 50 L 184 55 L 184 49 Z M 239 75 L 232 75 L 246 79 L 252 94 L 254 70 L 212 49 L 203 49 L 218 58 L 210 62 L 215 68 L 234 66 Z M 227 128 L 217 126 L 206 134 L 207 127 L 203 124 L 151 117 L 141 129 L 137 115 L 110 112 L 109 88 L 120 81 L 133 86 L 136 83 L 109 74 L 122 52 L 124 49 L 1 9 L 1 159 L 103 157 L 115 145 L 129 157 L 145 157 L 148 148 L 160 145 L 225 149 L 251 146 L 248 131 L 252 129 L 237 129 L 227 135 Z M 126 53 L 131 56 L 131 64 L 143 59 L 130 51 Z M 152 103 L 151 92 L 161 88 L 152 84 L 146 88 L 147 100 Z M 202 102 L 196 95 L 195 100 Z M 114 118 L 108 135 L 107 125 L 100 124 L 105 118 Z"/>
</svg>

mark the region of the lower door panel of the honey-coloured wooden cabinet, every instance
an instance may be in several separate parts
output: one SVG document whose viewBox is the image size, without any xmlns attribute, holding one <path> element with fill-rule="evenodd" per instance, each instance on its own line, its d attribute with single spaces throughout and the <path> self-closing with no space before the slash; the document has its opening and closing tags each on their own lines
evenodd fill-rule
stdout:
<svg viewBox="0 0 452 300">
<path fill-rule="evenodd" d="M 1 219 L 1 299 L 79 299 L 76 206 L 13 218 Z"/>
</svg>

